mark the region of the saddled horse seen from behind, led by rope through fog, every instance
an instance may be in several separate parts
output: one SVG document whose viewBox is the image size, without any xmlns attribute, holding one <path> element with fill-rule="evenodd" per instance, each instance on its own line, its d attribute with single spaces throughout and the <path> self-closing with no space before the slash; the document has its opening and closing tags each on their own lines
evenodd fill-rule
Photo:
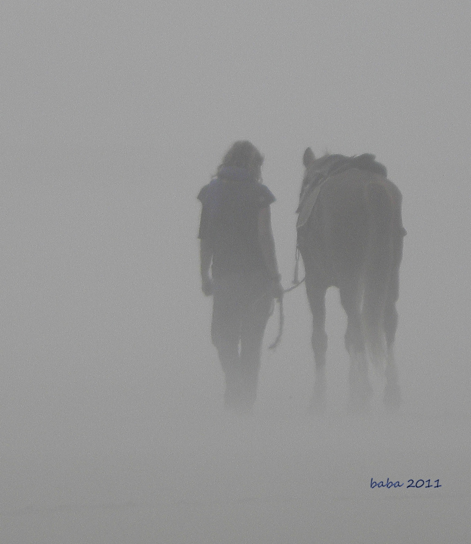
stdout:
<svg viewBox="0 0 471 544">
<path fill-rule="evenodd" d="M 298 208 L 298 249 L 313 317 L 315 381 L 311 409 L 325 401 L 325 295 L 337 287 L 348 324 L 350 406 L 365 411 L 373 388 L 369 363 L 386 376 L 384 403 L 398 407 L 401 391 L 393 345 L 398 326 L 399 268 L 403 239 L 402 195 L 375 156 L 326 154 L 308 147 Z"/>
</svg>

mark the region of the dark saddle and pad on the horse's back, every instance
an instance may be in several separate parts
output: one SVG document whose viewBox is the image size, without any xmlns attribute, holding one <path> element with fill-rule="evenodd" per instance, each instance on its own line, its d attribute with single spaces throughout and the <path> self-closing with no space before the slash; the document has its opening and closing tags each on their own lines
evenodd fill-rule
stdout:
<svg viewBox="0 0 471 544">
<path fill-rule="evenodd" d="M 375 159 L 375 155 L 363 153 L 362 155 L 353 157 L 345 157 L 344 155 L 326 155 L 325 157 L 316 160 L 314 163 L 314 174 L 312 175 L 308 186 L 303 189 L 298 209 L 296 209 L 296 213 L 299 214 L 298 221 L 296 222 L 296 229 L 299 230 L 306 224 L 311 216 L 312 209 L 319 196 L 321 187 L 331 177 L 352 168 L 375 172 L 375 174 L 387 177 L 386 166 L 383 166 Z"/>
</svg>

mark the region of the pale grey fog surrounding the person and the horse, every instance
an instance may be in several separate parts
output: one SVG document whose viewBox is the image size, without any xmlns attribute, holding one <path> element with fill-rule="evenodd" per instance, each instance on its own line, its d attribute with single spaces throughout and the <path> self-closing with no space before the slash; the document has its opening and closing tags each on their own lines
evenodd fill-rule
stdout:
<svg viewBox="0 0 471 544">
<path fill-rule="evenodd" d="M 1 13 L 0 541 L 470 542 L 469 2 Z M 265 157 L 285 287 L 307 146 L 374 153 L 401 189 L 394 415 L 380 373 L 349 414 L 335 290 L 308 414 L 303 287 L 253 416 L 222 410 L 196 195 L 237 139 Z"/>
</svg>

